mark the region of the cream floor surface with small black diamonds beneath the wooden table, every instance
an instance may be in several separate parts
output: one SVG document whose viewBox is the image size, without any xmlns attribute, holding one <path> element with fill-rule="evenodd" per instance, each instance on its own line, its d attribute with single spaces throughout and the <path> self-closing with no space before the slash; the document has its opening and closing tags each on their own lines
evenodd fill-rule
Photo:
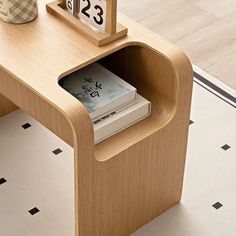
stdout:
<svg viewBox="0 0 236 236">
<path fill-rule="evenodd" d="M 134 236 L 236 235 L 236 102 L 195 81 L 182 202 Z M 0 236 L 72 236 L 73 218 L 72 148 L 21 110 L 0 118 Z"/>
</svg>

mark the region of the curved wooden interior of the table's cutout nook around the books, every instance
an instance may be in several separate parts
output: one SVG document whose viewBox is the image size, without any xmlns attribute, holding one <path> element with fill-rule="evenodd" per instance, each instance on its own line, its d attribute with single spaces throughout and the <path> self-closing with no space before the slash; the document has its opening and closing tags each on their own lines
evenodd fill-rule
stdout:
<svg viewBox="0 0 236 236">
<path fill-rule="evenodd" d="M 145 63 L 148 60 L 152 63 Z M 152 104 L 149 117 L 95 145 L 96 159 L 105 161 L 155 133 L 170 121 L 176 105 L 176 81 L 172 79 L 174 74 L 166 77 L 161 70 L 168 62 L 160 60 L 155 51 L 145 45 L 126 46 L 97 62 L 136 87 L 137 92 Z M 171 75 L 174 72 L 169 73 Z M 163 79 L 169 80 L 168 90 L 165 89 Z"/>
</svg>

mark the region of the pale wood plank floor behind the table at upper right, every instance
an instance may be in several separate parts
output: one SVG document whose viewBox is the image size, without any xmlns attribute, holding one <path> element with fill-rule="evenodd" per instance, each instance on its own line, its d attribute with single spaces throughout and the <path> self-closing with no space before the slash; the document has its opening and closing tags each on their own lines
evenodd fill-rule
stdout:
<svg viewBox="0 0 236 236">
<path fill-rule="evenodd" d="M 191 62 L 236 89 L 235 0 L 119 0 L 118 9 L 175 43 Z"/>
</svg>

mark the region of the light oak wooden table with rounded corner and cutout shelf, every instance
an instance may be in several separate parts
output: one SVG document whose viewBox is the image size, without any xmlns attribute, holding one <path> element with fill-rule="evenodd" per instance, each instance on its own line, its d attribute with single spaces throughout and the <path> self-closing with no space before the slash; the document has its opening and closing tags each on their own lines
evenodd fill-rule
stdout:
<svg viewBox="0 0 236 236">
<path fill-rule="evenodd" d="M 74 147 L 76 236 L 127 236 L 180 201 L 192 68 L 173 44 L 129 18 L 129 35 L 96 47 L 48 14 L 0 22 L 0 93 Z M 85 107 L 58 85 L 94 61 L 152 102 L 147 119 L 94 145 Z"/>
</svg>

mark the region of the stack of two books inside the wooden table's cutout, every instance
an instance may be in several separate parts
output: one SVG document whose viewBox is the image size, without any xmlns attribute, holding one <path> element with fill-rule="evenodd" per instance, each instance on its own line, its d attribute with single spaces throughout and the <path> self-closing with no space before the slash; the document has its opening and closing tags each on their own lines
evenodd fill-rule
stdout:
<svg viewBox="0 0 236 236">
<path fill-rule="evenodd" d="M 98 63 L 91 64 L 59 81 L 89 112 L 94 142 L 128 128 L 151 113 L 151 103 L 136 88 Z"/>
</svg>

